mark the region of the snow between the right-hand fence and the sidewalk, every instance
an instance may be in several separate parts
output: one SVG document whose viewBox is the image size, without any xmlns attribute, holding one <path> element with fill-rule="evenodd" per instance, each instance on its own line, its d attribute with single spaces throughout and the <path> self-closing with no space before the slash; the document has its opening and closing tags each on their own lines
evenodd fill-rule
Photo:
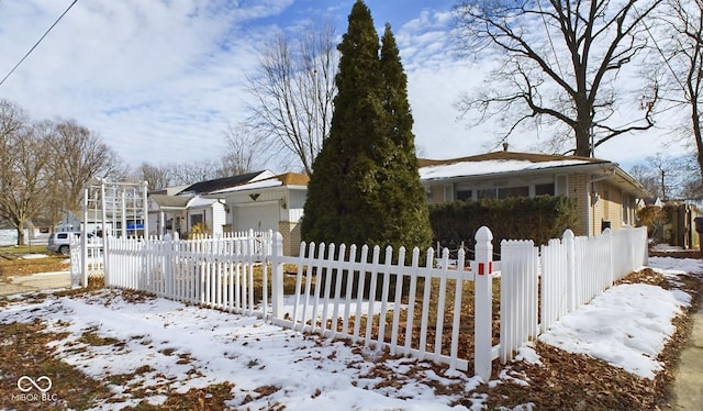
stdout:
<svg viewBox="0 0 703 411">
<path fill-rule="evenodd" d="M 649 267 L 676 281 L 687 273 L 703 274 L 700 259 L 649 258 Z M 676 329 L 671 320 L 689 307 L 691 296 L 644 284 L 605 290 L 581 309 L 562 316 L 543 342 L 588 354 L 645 378 L 661 369 L 657 355 Z"/>
</svg>

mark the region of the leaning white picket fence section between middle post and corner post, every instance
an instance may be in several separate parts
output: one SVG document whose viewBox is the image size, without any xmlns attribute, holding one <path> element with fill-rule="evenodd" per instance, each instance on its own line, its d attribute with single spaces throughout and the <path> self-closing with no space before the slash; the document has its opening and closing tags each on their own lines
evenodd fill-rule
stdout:
<svg viewBox="0 0 703 411">
<path fill-rule="evenodd" d="M 461 349 L 459 333 L 462 304 L 470 303 L 462 300 L 464 293 L 467 286 L 473 287 L 475 327 L 468 332 L 476 338 L 476 373 L 488 378 L 495 357 L 491 346 L 491 240 L 490 231 L 482 227 L 477 233 L 476 260 L 465 262 L 460 251 L 456 269 L 449 267 L 448 249 L 437 265 L 434 249 L 427 249 L 421 265 L 421 251 L 414 248 L 406 265 L 404 247 L 393 254 L 389 246 L 381 256 L 378 246 L 369 255 L 365 245 L 359 255 L 355 245 L 347 249 L 345 245 L 302 243 L 300 256 L 288 257 L 277 252 L 282 245 L 275 243 L 270 258 L 272 320 L 293 330 L 350 338 L 369 348 L 388 348 L 391 355 L 412 355 L 467 370 L 470 353 Z M 280 282 L 283 264 L 298 267 L 292 312 L 288 313 Z M 447 309 L 451 320 L 445 324 Z"/>
</svg>

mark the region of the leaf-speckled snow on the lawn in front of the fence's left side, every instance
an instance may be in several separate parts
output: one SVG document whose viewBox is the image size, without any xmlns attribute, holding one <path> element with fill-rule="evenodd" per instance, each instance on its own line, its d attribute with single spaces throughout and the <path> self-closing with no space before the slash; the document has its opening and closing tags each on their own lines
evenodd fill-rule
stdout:
<svg viewBox="0 0 703 411">
<path fill-rule="evenodd" d="M 469 389 L 480 382 L 461 373 L 439 376 L 429 364 L 412 358 L 381 360 L 371 349 L 305 337 L 256 318 L 156 298 L 127 302 L 119 291 L 76 299 L 49 297 L 38 304 L 18 301 L 0 313 L 4 323 L 35 318 L 48 322 L 47 331 L 70 333 L 56 343 L 57 355 L 94 379 L 148 366 L 149 371 L 123 386 L 141 379 L 142 388 L 169 384 L 186 392 L 230 381 L 233 408 L 243 406 L 247 396 L 260 397 L 257 388 L 277 386 L 280 390 L 274 395 L 245 407 L 267 409 L 278 401 L 287 410 L 339 404 L 364 410 L 442 410 L 455 397 L 436 396 L 433 385 L 458 384 Z M 125 344 L 89 346 L 79 341 L 88 332 Z M 388 367 L 386 377 L 373 373 L 377 366 Z M 403 384 L 386 384 L 390 378 Z M 124 401 L 96 404 L 96 409 L 134 407 L 141 400 L 125 395 Z M 152 403 L 165 400 L 149 398 Z"/>
</svg>

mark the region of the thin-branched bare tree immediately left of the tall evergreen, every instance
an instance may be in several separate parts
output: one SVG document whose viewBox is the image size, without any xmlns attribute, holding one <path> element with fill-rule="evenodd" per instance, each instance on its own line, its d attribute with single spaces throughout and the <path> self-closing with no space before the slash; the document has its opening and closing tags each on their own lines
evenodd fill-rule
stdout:
<svg viewBox="0 0 703 411">
<path fill-rule="evenodd" d="M 263 46 L 258 69 L 248 78 L 249 124 L 299 158 L 308 174 L 330 133 L 336 66 L 335 29 L 326 22 L 294 37 L 276 35 Z"/>
</svg>

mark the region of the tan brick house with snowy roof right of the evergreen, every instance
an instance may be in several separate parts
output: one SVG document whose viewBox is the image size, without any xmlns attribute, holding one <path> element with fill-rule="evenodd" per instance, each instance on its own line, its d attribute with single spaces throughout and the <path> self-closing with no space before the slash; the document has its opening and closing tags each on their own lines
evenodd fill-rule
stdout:
<svg viewBox="0 0 703 411">
<path fill-rule="evenodd" d="M 638 199 L 651 197 L 617 164 L 598 158 L 503 151 L 419 162 L 431 203 L 539 195 L 574 198 L 577 235 L 635 225 Z"/>
</svg>

